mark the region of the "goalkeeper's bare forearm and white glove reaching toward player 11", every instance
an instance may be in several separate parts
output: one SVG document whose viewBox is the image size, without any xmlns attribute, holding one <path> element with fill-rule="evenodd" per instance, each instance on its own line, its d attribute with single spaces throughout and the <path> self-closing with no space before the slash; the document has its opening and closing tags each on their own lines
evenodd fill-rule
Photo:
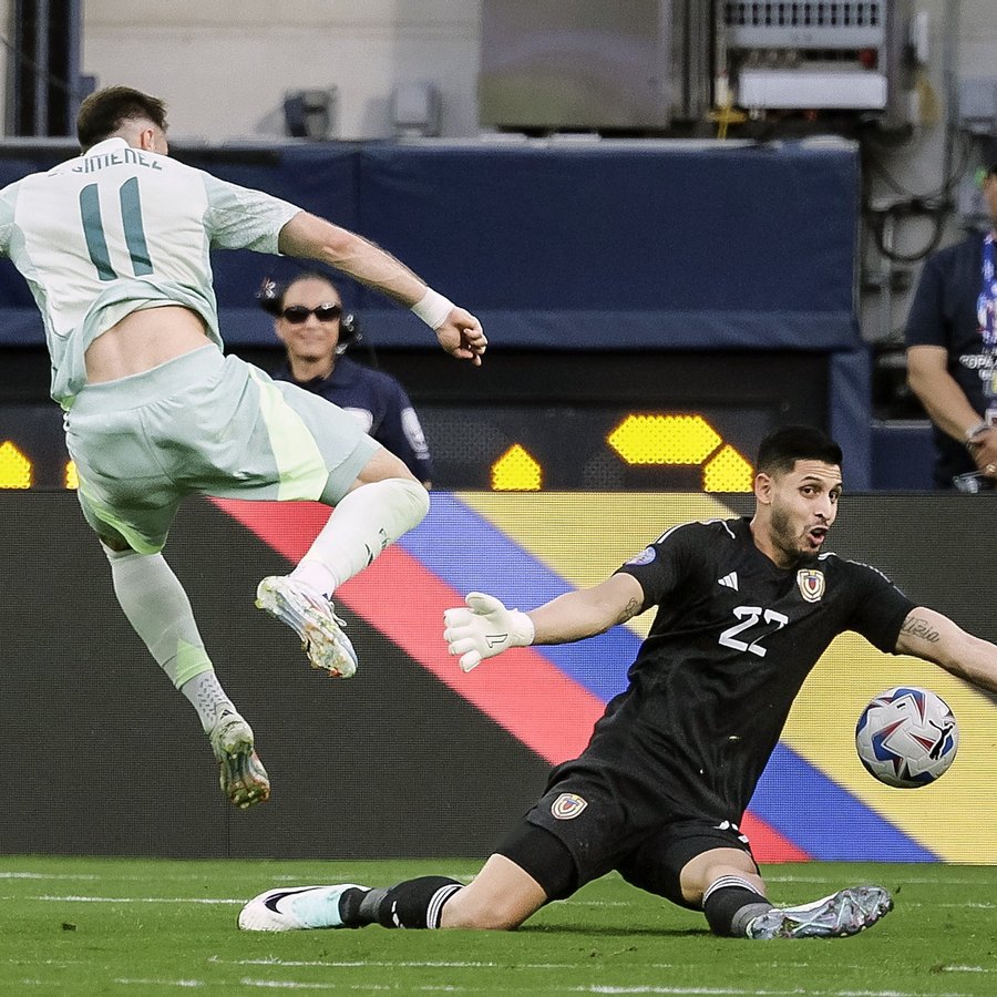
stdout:
<svg viewBox="0 0 997 997">
<path fill-rule="evenodd" d="M 626 574 L 613 575 L 602 585 L 565 593 L 530 613 L 506 608 L 500 599 L 480 592 L 467 595 L 466 608 L 443 614 L 443 639 L 461 668 L 470 671 L 485 658 L 531 644 L 567 644 L 602 634 L 640 613 L 644 589 Z"/>
</svg>

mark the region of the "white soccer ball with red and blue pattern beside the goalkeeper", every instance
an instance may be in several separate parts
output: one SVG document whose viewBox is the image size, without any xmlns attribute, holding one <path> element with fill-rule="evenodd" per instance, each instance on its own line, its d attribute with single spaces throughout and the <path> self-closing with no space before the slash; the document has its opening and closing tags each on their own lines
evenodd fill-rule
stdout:
<svg viewBox="0 0 997 997">
<path fill-rule="evenodd" d="M 929 689 L 900 686 L 881 692 L 862 711 L 855 749 L 880 782 L 917 789 L 944 775 L 959 747 L 948 703 Z"/>
</svg>

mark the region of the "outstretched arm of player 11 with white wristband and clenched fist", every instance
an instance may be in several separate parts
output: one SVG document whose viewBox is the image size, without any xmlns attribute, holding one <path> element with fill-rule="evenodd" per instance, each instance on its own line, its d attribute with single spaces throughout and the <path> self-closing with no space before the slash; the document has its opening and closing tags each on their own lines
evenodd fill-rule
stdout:
<svg viewBox="0 0 997 997">
<path fill-rule="evenodd" d="M 481 366 L 489 345 L 481 322 L 369 239 L 299 212 L 280 229 L 278 248 L 286 256 L 319 259 L 404 305 L 435 331 L 440 346 L 451 357 Z"/>
</svg>

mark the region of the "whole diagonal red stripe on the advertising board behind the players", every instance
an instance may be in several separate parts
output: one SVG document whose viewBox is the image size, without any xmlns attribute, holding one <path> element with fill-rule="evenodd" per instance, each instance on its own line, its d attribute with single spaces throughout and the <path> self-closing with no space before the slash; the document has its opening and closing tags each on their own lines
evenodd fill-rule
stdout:
<svg viewBox="0 0 997 997">
<path fill-rule="evenodd" d="M 329 517 L 328 507 L 312 502 L 210 501 L 292 564 Z M 389 547 L 336 598 L 552 764 L 574 758 L 588 743 L 605 705 L 536 651 L 516 648 L 501 664 L 485 662 L 467 675 L 460 670 L 443 644 L 443 610 L 463 605 L 464 596 L 401 547 Z M 556 713 L 551 703 L 557 703 Z M 751 813 L 744 814 L 742 829 L 759 862 L 810 859 Z"/>
</svg>

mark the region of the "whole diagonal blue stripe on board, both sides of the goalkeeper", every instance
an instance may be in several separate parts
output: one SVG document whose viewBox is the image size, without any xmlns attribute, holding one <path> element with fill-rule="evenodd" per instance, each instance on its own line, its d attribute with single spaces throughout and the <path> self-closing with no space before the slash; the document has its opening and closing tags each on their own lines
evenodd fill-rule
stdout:
<svg viewBox="0 0 997 997">
<path fill-rule="evenodd" d="M 572 590 L 528 551 L 445 492 L 433 492 L 429 515 L 398 543 L 458 592 L 486 592 L 507 606 L 532 609 Z M 636 634 L 614 627 L 577 644 L 535 650 L 606 702 L 626 687 L 626 669 L 639 646 Z M 938 859 L 782 742 L 756 789 L 751 811 L 815 859 Z"/>
</svg>

